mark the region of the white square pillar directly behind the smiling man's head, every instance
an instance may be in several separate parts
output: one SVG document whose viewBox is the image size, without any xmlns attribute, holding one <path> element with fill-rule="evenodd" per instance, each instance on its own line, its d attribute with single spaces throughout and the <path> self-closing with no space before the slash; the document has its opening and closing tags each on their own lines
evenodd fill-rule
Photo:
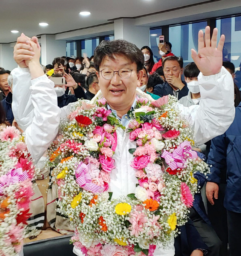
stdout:
<svg viewBox="0 0 241 256">
<path fill-rule="evenodd" d="M 114 39 L 124 39 L 134 43 L 138 48 L 149 46 L 149 26 L 135 26 L 134 19 L 114 20 Z"/>
</svg>

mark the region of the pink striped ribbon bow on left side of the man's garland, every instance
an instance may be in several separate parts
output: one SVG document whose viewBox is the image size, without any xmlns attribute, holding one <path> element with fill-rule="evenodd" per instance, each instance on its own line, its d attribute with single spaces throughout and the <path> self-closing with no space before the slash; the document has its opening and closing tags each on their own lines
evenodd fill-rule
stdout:
<svg viewBox="0 0 241 256">
<path fill-rule="evenodd" d="M 79 162 L 79 165 L 75 171 L 76 182 L 79 184 L 81 188 L 84 188 L 87 191 L 92 193 L 103 193 L 104 188 L 95 185 L 92 183 L 92 179 L 90 177 L 90 164 L 87 165 L 83 162 Z"/>
</svg>

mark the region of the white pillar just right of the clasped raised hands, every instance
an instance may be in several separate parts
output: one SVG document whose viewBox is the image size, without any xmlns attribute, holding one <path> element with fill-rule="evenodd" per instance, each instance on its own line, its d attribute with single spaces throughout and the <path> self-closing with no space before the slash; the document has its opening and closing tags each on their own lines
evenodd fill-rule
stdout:
<svg viewBox="0 0 241 256">
<path fill-rule="evenodd" d="M 55 35 L 41 35 L 41 64 L 52 64 L 55 57 L 66 56 L 66 40 L 55 40 Z"/>
</svg>

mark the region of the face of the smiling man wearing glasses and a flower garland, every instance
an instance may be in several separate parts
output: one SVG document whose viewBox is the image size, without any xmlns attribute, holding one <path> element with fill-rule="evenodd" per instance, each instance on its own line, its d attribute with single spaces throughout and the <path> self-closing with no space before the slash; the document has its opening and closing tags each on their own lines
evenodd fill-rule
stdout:
<svg viewBox="0 0 241 256">
<path fill-rule="evenodd" d="M 137 82 L 140 82 L 143 76 L 143 71 L 136 71 L 136 63 L 131 61 L 124 55 L 115 55 L 114 59 L 105 57 L 99 66 L 99 72 L 96 72 L 99 79 L 99 88 L 107 100 L 108 104 L 115 110 L 124 110 L 131 105 L 136 97 Z M 112 69 L 113 71 L 119 71 L 121 68 L 130 68 L 131 76 L 123 79 L 119 76 L 118 72 L 114 72 L 114 76 L 107 80 L 101 75 L 103 69 Z"/>
</svg>

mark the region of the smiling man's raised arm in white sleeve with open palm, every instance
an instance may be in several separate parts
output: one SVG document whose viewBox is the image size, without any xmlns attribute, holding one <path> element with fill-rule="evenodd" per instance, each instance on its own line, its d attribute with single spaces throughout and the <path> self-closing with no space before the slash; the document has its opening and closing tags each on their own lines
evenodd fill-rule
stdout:
<svg viewBox="0 0 241 256">
<path fill-rule="evenodd" d="M 210 40 L 210 28 L 206 27 L 204 40 L 203 31 L 199 31 L 198 54 L 192 49 L 192 58 L 200 70 L 200 104 L 186 108 L 178 103 L 179 109 L 192 125 L 197 145 L 223 134 L 235 116 L 233 79 L 222 68 L 225 37 L 221 35 L 217 46 L 217 34 L 218 29 L 215 28 Z"/>
</svg>

